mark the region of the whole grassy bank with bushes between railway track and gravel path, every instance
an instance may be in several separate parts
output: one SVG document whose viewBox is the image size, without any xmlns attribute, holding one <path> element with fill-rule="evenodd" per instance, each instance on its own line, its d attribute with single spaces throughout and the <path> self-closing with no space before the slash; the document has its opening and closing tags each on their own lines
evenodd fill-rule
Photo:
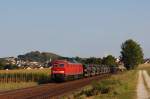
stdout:
<svg viewBox="0 0 150 99">
<path fill-rule="evenodd" d="M 93 82 L 90 86 L 68 97 L 74 99 L 136 99 L 136 84 L 137 71 L 127 71 Z"/>
</svg>

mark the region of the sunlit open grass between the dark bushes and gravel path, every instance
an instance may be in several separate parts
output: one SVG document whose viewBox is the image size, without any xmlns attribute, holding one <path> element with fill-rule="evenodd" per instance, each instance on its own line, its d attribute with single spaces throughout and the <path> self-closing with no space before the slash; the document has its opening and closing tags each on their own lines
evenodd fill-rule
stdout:
<svg viewBox="0 0 150 99">
<path fill-rule="evenodd" d="M 128 71 L 121 75 L 113 76 L 110 81 L 112 90 L 108 94 L 97 96 L 101 99 L 136 99 L 137 73 Z"/>
</svg>

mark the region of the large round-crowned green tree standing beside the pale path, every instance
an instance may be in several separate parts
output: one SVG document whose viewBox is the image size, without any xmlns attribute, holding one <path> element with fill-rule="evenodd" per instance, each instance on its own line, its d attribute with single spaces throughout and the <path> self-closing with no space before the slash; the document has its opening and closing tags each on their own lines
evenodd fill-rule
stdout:
<svg viewBox="0 0 150 99">
<path fill-rule="evenodd" d="M 143 51 L 140 45 L 132 39 L 126 40 L 121 45 L 121 61 L 130 70 L 136 68 L 143 62 Z"/>
</svg>

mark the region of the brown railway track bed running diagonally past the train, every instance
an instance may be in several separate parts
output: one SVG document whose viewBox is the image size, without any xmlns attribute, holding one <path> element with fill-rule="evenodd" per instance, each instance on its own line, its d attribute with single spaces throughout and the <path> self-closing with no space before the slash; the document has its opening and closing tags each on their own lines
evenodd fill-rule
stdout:
<svg viewBox="0 0 150 99">
<path fill-rule="evenodd" d="M 0 92 L 0 99 L 59 99 L 61 96 L 80 89 L 94 80 L 100 80 L 108 76 L 109 74 L 104 74 L 64 83 L 50 83 L 14 91 Z"/>
</svg>

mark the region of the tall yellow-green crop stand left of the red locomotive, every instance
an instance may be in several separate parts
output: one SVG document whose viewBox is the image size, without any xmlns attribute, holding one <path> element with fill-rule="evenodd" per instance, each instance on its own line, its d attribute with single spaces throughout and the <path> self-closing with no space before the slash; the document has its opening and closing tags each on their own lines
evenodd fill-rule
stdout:
<svg viewBox="0 0 150 99">
<path fill-rule="evenodd" d="M 1 70 L 0 71 L 0 82 L 37 82 L 47 83 L 50 81 L 50 69 L 41 70 Z"/>
</svg>

